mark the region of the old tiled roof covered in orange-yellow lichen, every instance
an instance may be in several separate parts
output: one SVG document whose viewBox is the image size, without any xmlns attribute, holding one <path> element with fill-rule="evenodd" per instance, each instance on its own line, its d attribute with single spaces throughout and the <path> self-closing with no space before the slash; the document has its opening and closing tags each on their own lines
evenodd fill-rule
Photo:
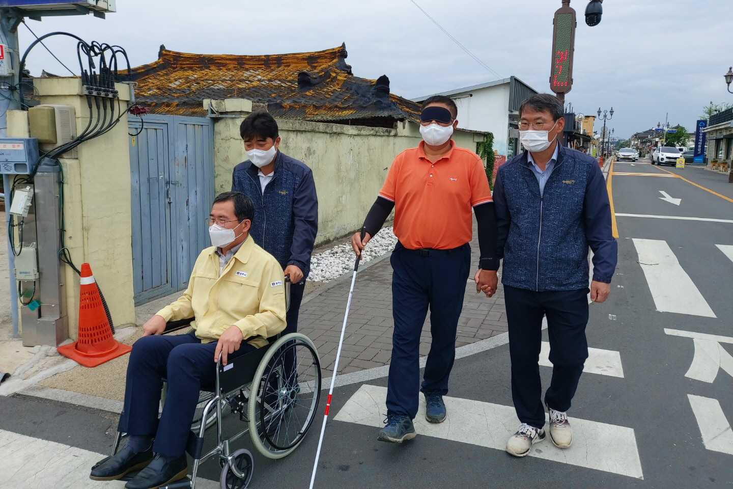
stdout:
<svg viewBox="0 0 733 489">
<path fill-rule="evenodd" d="M 158 60 L 132 69 L 136 101 L 155 114 L 203 116 L 202 100 L 246 98 L 274 117 L 391 127 L 419 120 L 419 105 L 389 92 L 389 79 L 353 76 L 346 46 L 312 53 L 189 54 L 161 45 Z"/>
</svg>

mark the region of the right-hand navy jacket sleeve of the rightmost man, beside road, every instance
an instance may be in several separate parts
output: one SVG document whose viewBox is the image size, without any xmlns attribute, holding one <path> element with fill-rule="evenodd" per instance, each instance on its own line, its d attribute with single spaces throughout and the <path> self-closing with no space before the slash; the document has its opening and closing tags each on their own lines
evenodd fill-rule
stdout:
<svg viewBox="0 0 733 489">
<path fill-rule="evenodd" d="M 610 284 L 616 270 L 618 249 L 611 231 L 608 191 L 597 165 L 591 166 L 583 207 L 586 240 L 593 250 L 593 280 Z"/>
</svg>

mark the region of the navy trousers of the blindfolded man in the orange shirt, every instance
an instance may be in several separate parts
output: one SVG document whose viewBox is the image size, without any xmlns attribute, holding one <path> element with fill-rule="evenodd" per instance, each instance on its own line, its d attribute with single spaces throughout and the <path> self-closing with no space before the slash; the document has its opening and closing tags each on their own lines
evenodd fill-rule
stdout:
<svg viewBox="0 0 733 489">
<path fill-rule="evenodd" d="M 392 358 L 387 413 L 417 415 L 419 391 L 448 392 L 455 359 L 456 329 L 471 262 L 466 243 L 450 250 L 410 250 L 397 243 L 392 274 Z M 420 333 L 430 309 L 432 345 L 420 387 Z"/>
</svg>

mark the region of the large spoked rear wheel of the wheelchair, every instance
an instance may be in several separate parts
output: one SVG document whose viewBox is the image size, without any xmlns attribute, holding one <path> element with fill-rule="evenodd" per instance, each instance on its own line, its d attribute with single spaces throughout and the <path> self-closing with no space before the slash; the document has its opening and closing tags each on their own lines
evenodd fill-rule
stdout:
<svg viewBox="0 0 733 489">
<path fill-rule="evenodd" d="M 258 452 L 282 458 L 303 441 L 320 387 L 320 361 L 308 337 L 287 334 L 270 347 L 254 374 L 247 405 L 249 434 Z"/>
</svg>

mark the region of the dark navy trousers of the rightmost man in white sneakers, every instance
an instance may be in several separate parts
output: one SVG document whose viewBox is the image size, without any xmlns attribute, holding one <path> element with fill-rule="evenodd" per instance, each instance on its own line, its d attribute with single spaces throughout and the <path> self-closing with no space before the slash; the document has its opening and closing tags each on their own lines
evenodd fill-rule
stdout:
<svg viewBox="0 0 733 489">
<path fill-rule="evenodd" d="M 542 316 L 548 318 L 553 364 L 545 404 L 556 411 L 567 411 L 588 358 L 588 289 L 534 292 L 504 285 L 504 302 L 509 323 L 514 408 L 520 422 L 542 428 L 545 425 L 539 379 Z"/>
</svg>

